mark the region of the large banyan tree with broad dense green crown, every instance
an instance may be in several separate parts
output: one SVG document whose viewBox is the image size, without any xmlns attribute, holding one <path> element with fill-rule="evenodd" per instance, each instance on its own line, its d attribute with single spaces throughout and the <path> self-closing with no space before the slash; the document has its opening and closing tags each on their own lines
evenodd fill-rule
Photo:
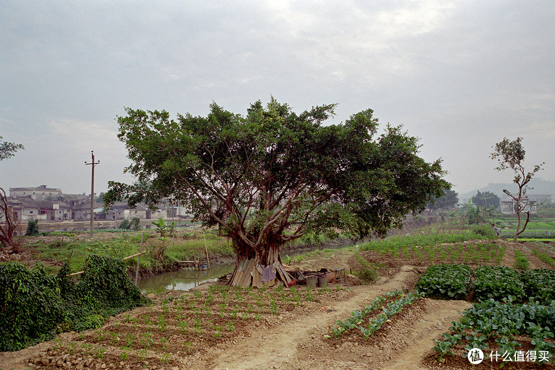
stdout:
<svg viewBox="0 0 555 370">
<path fill-rule="evenodd" d="M 244 261 L 281 263 L 280 247 L 302 236 L 383 236 L 448 189 L 441 160 L 420 158 L 417 138 L 390 125 L 377 136 L 371 109 L 325 125 L 334 107 L 295 114 L 271 99 L 242 116 L 214 103 L 206 117 L 176 119 L 127 108 L 118 137 L 137 182 L 110 182 L 104 199 L 188 204 L 233 242 L 234 282 Z"/>
</svg>

